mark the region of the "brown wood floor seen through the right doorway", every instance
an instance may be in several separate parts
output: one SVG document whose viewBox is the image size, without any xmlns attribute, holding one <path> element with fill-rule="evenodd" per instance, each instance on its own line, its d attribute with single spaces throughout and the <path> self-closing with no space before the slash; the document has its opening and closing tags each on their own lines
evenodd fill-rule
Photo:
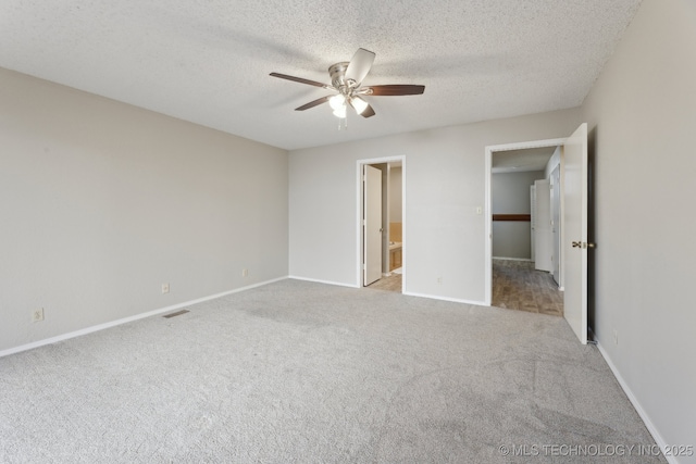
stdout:
<svg viewBox="0 0 696 464">
<path fill-rule="evenodd" d="M 531 261 L 493 260 L 494 306 L 563 315 L 563 292 L 547 272 Z"/>
</svg>

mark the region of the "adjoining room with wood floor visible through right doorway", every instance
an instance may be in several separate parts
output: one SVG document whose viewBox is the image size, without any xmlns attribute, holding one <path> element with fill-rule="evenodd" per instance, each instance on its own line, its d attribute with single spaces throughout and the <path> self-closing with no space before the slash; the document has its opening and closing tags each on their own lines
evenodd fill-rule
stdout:
<svg viewBox="0 0 696 464">
<path fill-rule="evenodd" d="M 562 316 L 561 147 L 493 153 L 493 301 Z"/>
</svg>

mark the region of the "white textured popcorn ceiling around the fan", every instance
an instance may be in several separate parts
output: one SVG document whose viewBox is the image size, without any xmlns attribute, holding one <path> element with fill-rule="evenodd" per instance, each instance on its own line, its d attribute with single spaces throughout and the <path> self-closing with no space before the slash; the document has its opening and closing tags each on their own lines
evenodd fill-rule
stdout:
<svg viewBox="0 0 696 464">
<path fill-rule="evenodd" d="M 576 106 L 641 0 L 2 0 L 0 66 L 284 149 Z M 327 92 L 359 48 L 372 97 L 347 130 Z"/>
</svg>

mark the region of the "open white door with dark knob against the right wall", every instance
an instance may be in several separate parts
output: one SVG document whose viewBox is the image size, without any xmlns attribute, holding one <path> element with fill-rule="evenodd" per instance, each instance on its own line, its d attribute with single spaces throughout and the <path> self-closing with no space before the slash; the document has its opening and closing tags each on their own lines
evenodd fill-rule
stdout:
<svg viewBox="0 0 696 464">
<path fill-rule="evenodd" d="M 587 343 L 587 124 L 563 146 L 563 316 Z"/>
</svg>

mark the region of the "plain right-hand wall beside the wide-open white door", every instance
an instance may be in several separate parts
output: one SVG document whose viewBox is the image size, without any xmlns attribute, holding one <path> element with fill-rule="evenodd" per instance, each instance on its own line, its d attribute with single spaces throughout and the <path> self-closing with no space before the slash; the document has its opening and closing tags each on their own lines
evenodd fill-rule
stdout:
<svg viewBox="0 0 696 464">
<path fill-rule="evenodd" d="M 664 442 L 696 446 L 696 2 L 645 0 L 582 108 L 595 334 Z"/>
</svg>

